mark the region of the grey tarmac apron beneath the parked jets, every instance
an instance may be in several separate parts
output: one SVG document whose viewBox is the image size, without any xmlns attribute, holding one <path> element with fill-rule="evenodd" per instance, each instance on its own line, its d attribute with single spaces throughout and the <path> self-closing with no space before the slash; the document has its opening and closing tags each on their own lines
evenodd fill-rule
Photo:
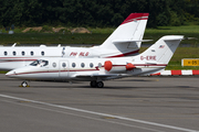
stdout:
<svg viewBox="0 0 199 132">
<path fill-rule="evenodd" d="M 199 76 L 21 82 L 0 74 L 1 132 L 199 132 Z"/>
</svg>

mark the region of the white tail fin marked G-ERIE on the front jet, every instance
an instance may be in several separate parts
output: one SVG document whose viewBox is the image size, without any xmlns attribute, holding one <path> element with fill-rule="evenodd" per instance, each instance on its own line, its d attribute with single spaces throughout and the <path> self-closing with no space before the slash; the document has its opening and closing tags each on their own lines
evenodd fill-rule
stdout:
<svg viewBox="0 0 199 132">
<path fill-rule="evenodd" d="M 167 35 L 159 38 L 154 45 L 146 50 L 135 59 L 145 64 L 168 64 L 179 43 L 184 40 L 182 35 Z"/>
</svg>

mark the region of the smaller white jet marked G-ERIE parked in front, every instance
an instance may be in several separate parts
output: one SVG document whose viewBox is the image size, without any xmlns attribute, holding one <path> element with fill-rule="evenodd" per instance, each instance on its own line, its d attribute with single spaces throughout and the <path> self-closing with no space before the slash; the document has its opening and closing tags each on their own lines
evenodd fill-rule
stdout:
<svg viewBox="0 0 199 132">
<path fill-rule="evenodd" d="M 44 57 L 29 66 L 13 69 L 6 76 L 24 80 L 91 81 L 91 87 L 102 88 L 103 80 L 146 76 L 164 70 L 181 40 L 182 35 L 163 36 L 144 53 L 130 57 Z M 28 86 L 27 81 L 21 85 Z"/>
</svg>

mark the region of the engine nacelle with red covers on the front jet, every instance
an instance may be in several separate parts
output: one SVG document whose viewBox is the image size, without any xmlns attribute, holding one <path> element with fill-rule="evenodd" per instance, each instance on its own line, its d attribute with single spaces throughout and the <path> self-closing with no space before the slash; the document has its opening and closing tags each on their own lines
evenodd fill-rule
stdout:
<svg viewBox="0 0 199 132">
<path fill-rule="evenodd" d="M 104 68 L 106 72 L 125 72 L 125 70 L 132 70 L 136 68 L 132 63 L 123 63 L 123 64 L 117 64 L 111 61 L 106 61 L 104 63 Z"/>
</svg>

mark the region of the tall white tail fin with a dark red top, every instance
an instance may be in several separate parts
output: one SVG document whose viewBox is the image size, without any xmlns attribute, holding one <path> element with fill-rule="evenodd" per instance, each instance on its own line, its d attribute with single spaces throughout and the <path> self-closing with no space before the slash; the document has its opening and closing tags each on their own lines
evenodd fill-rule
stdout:
<svg viewBox="0 0 199 132">
<path fill-rule="evenodd" d="M 124 54 L 139 50 L 148 15 L 148 13 L 130 13 L 100 47 Z"/>
</svg>

